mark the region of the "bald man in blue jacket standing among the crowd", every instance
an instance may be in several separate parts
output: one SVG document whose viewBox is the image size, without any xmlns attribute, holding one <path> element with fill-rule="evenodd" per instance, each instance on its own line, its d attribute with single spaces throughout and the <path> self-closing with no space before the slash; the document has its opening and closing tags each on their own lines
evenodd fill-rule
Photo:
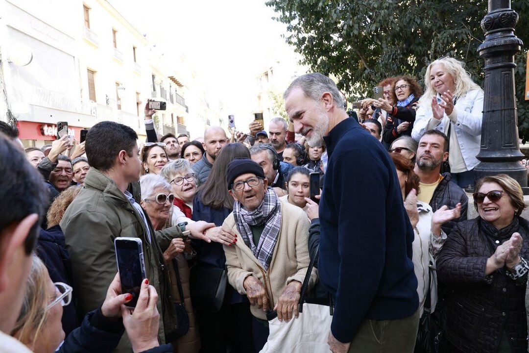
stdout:
<svg viewBox="0 0 529 353">
<path fill-rule="evenodd" d="M 226 132 L 220 126 L 210 126 L 204 131 L 204 149 L 206 153 L 191 169 L 195 171 L 198 184 L 206 182 L 218 152 L 228 143 Z"/>
</svg>

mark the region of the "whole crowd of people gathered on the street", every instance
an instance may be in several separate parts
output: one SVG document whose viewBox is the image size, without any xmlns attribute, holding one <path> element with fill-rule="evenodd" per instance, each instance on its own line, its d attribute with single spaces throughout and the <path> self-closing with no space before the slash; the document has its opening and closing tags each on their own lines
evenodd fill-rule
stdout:
<svg viewBox="0 0 529 353">
<path fill-rule="evenodd" d="M 334 353 L 527 351 L 522 189 L 475 180 L 483 91 L 462 63 L 435 60 L 424 82 L 382 81 L 358 122 L 306 74 L 284 94 L 289 121 L 192 141 L 157 134 L 148 105 L 140 146 L 103 121 L 24 156 L 0 123 L 0 351 L 266 351 L 307 293 L 331 323 L 289 329 L 281 351 L 300 351 L 294 334 Z M 117 237 L 142 242 L 135 309 Z"/>
</svg>

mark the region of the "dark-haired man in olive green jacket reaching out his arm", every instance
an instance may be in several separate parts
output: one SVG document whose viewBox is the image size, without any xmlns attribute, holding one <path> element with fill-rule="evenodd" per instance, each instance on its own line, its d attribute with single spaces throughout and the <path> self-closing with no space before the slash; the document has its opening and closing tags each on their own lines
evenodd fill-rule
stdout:
<svg viewBox="0 0 529 353">
<path fill-rule="evenodd" d="M 130 183 L 139 180 L 142 168 L 137 139 L 129 126 L 111 121 L 97 123 L 88 131 L 85 150 L 91 168 L 60 226 L 72 261 L 79 319 L 105 300 L 117 269 L 114 239 L 142 240 L 145 273 L 159 294 L 158 339 L 166 343 L 175 339 L 172 334 L 178 322 L 162 254 L 170 239 L 181 237 L 182 232 L 179 227 L 155 232 L 147 213 L 127 191 Z M 191 234 L 197 234 L 194 230 L 200 225 L 188 227 L 195 227 Z M 116 351 L 130 352 L 130 341 L 122 339 Z"/>
</svg>

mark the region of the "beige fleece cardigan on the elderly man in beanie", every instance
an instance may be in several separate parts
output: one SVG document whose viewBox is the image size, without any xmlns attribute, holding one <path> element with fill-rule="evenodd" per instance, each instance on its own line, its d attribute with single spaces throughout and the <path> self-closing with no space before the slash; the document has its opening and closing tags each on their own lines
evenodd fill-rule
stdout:
<svg viewBox="0 0 529 353">
<path fill-rule="evenodd" d="M 281 228 L 268 271 L 265 271 L 259 260 L 252 254 L 252 250 L 245 245 L 235 225 L 233 213 L 226 218 L 223 224 L 223 227 L 232 229 L 238 236 L 234 245 L 224 246 L 230 284 L 239 293 L 246 294 L 242 285 L 244 279 L 248 276 L 256 277 L 265 286 L 269 302 L 272 303 L 270 309 L 277 304 L 285 287 L 291 281 L 297 280 L 303 284 L 309 263 L 308 228 L 311 222 L 306 213 L 297 206 L 280 201 L 280 207 Z M 308 285 L 309 289 L 316 283 L 316 280 L 317 270 L 314 268 Z M 266 313 L 257 305 L 251 306 L 250 309 L 256 318 L 266 320 Z"/>
</svg>

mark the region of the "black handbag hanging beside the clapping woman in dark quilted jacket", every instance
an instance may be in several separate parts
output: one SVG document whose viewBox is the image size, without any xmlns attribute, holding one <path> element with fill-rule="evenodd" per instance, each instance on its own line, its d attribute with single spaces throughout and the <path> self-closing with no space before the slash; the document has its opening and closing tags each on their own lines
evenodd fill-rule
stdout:
<svg viewBox="0 0 529 353">
<path fill-rule="evenodd" d="M 430 270 L 430 281 L 432 274 Z M 431 287 L 430 287 L 431 288 Z M 430 289 L 424 300 L 424 312 L 419 320 L 419 329 L 415 341 L 414 353 L 439 353 L 439 341 L 441 339 L 440 313 L 431 310 Z"/>
</svg>

